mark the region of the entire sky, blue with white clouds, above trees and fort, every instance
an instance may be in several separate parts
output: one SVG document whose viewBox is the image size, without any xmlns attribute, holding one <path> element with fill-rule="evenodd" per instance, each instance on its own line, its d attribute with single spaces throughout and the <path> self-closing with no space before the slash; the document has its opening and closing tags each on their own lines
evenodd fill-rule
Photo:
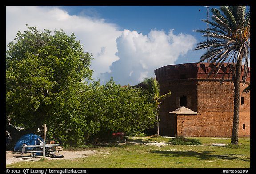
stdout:
<svg viewBox="0 0 256 174">
<path fill-rule="evenodd" d="M 136 85 L 162 66 L 198 62 L 204 50 L 193 49 L 206 38 L 193 30 L 206 18 L 204 6 L 6 6 L 6 45 L 25 24 L 73 32 L 92 53 L 94 80 Z"/>
</svg>

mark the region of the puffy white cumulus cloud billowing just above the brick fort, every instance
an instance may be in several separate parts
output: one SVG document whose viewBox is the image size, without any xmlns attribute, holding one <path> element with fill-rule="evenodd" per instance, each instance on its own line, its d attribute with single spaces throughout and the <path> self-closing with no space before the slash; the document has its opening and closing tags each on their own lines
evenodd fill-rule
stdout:
<svg viewBox="0 0 256 174">
<path fill-rule="evenodd" d="M 116 39 L 119 60 L 112 63 L 111 72 L 103 73 L 100 79 L 113 77 L 122 85 L 136 85 L 146 77 L 155 77 L 154 70 L 174 64 L 180 55 L 193 49 L 196 39 L 192 35 L 175 35 L 173 30 L 151 30 L 148 35 L 124 30 Z"/>
</svg>

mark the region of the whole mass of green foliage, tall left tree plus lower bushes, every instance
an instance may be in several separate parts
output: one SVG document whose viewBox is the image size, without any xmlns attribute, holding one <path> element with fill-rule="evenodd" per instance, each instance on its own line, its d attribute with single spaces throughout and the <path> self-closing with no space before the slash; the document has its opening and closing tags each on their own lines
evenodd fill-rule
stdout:
<svg viewBox="0 0 256 174">
<path fill-rule="evenodd" d="M 28 27 L 6 51 L 6 124 L 25 133 L 47 124 L 47 138 L 63 145 L 142 134 L 153 126 L 154 108 L 141 89 L 92 80 L 92 55 L 64 31 Z M 38 133 L 37 133 L 38 134 Z"/>
</svg>

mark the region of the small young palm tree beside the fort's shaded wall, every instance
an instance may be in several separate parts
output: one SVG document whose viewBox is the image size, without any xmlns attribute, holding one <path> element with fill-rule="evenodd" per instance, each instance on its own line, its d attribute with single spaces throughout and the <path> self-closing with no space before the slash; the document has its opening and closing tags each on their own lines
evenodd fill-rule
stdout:
<svg viewBox="0 0 256 174">
<path fill-rule="evenodd" d="M 158 119 L 158 111 L 159 111 L 159 105 L 160 105 L 160 100 L 165 98 L 165 97 L 169 97 L 171 95 L 171 92 L 169 90 L 168 93 L 163 94 L 160 96 L 160 84 L 158 83 L 158 81 L 156 80 L 156 78 L 150 77 L 150 78 L 145 78 L 144 84 L 147 85 L 147 89 L 146 91 L 148 92 L 148 94 L 150 95 L 150 97 L 152 98 L 152 101 L 155 104 L 155 109 L 156 109 L 156 124 L 157 124 L 157 136 L 159 135 L 159 119 Z"/>
</svg>

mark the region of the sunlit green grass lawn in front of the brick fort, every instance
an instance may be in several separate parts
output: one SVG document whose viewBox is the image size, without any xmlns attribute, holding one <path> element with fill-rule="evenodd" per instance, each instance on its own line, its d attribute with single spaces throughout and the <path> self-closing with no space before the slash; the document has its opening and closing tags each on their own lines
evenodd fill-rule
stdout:
<svg viewBox="0 0 256 174">
<path fill-rule="evenodd" d="M 239 139 L 239 148 L 209 146 L 230 139 L 198 138 L 203 145 L 172 145 L 170 138 L 140 137 L 129 141 L 167 142 L 166 146 L 139 144 L 98 145 L 86 158 L 16 162 L 12 168 L 250 168 L 250 140 Z"/>
</svg>

